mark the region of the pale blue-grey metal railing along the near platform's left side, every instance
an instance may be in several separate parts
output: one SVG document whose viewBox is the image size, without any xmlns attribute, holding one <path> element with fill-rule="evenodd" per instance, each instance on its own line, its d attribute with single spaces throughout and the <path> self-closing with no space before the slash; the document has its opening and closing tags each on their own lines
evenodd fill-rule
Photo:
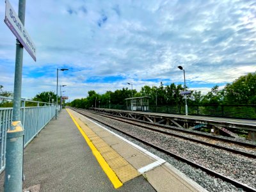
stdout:
<svg viewBox="0 0 256 192">
<path fill-rule="evenodd" d="M 0 96 L 1 100 L 12 100 Z M 26 107 L 26 102 L 35 103 L 36 106 Z M 40 106 L 44 105 L 44 106 Z M 20 121 L 24 127 L 24 147 L 48 124 L 56 113 L 56 106 L 35 100 L 22 99 L 20 108 Z M 12 108 L 0 108 L 0 173 L 5 168 L 6 131 L 12 124 Z"/>
</svg>

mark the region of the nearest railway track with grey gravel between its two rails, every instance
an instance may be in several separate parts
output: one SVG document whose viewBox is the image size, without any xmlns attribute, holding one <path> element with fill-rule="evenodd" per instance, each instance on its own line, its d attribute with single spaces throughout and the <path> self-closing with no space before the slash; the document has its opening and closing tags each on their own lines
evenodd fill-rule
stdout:
<svg viewBox="0 0 256 192">
<path fill-rule="evenodd" d="M 77 109 L 76 111 L 150 145 L 169 156 L 200 168 L 207 174 L 225 180 L 237 188 L 243 188 L 245 191 L 256 191 L 255 158 L 241 156 L 220 148 L 212 148 L 202 143 L 198 144 L 184 138 L 166 135 L 163 132 L 157 132 L 156 134 L 155 131 L 141 128 L 138 125 L 127 124 L 127 122 L 120 124 L 119 120 L 102 118 L 102 116 L 88 113 L 88 111 Z"/>
</svg>

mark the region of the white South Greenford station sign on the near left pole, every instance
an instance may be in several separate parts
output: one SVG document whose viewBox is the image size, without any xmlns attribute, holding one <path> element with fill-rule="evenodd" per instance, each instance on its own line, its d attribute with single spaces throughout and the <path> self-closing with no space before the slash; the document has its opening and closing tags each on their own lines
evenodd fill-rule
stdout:
<svg viewBox="0 0 256 192">
<path fill-rule="evenodd" d="M 12 33 L 19 40 L 20 44 L 28 51 L 33 60 L 36 61 L 36 46 L 28 35 L 28 31 L 24 28 L 17 14 L 14 12 L 12 5 L 6 0 L 5 19 L 4 22 L 11 29 Z"/>
</svg>

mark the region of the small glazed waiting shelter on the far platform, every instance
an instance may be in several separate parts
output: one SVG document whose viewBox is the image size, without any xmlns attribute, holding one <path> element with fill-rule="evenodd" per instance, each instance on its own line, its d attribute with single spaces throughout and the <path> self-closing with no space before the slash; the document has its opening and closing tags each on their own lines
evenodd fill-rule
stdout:
<svg viewBox="0 0 256 192">
<path fill-rule="evenodd" d="M 132 97 L 126 100 L 126 109 L 131 111 L 148 111 L 148 99 L 150 97 Z"/>
</svg>

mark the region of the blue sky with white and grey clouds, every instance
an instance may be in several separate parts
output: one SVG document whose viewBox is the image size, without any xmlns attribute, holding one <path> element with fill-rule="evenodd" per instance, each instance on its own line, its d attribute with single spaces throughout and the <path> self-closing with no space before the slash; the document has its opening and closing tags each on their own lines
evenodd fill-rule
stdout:
<svg viewBox="0 0 256 192">
<path fill-rule="evenodd" d="M 18 0 L 10 0 L 18 13 Z M 0 2 L 0 84 L 13 92 L 16 38 Z M 56 93 L 69 100 L 122 88 L 186 84 L 207 93 L 256 71 L 255 0 L 26 1 L 22 98 Z M 59 93 L 60 94 L 60 93 Z"/>
</svg>

